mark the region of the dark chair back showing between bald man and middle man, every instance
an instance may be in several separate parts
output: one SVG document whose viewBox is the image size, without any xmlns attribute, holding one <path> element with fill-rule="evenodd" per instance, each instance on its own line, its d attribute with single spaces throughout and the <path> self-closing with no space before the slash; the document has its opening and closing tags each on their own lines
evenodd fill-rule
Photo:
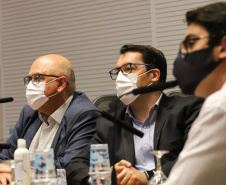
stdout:
<svg viewBox="0 0 226 185">
<path fill-rule="evenodd" d="M 125 107 L 125 105 L 119 100 L 116 94 L 102 95 L 93 100 L 93 104 L 101 111 L 108 113 L 115 111 L 115 106 L 117 109 Z"/>
</svg>

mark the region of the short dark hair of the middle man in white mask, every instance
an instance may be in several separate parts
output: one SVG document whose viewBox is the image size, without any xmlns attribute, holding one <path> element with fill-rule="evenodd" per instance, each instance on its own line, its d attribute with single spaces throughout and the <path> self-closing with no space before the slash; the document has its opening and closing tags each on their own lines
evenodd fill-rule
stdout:
<svg viewBox="0 0 226 185">
<path fill-rule="evenodd" d="M 142 55 L 143 62 L 145 64 L 149 64 L 148 66 L 146 66 L 147 70 L 154 68 L 159 69 L 160 71 L 159 82 L 166 81 L 167 75 L 166 58 L 161 51 L 149 45 L 127 44 L 121 48 L 120 54 L 124 54 L 129 51 L 140 52 Z"/>
</svg>

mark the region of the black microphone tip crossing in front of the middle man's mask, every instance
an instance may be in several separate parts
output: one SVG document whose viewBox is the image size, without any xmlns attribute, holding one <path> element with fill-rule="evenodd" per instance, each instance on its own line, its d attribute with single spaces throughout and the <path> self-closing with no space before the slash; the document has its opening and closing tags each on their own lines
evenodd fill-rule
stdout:
<svg viewBox="0 0 226 185">
<path fill-rule="evenodd" d="M 168 89 L 171 87 L 175 87 L 175 86 L 177 86 L 177 84 L 178 83 L 176 80 L 170 81 L 170 82 L 158 83 L 158 84 L 150 85 L 147 87 L 139 87 L 126 94 L 133 93 L 134 95 L 137 95 L 137 94 L 144 94 L 144 93 L 149 93 L 149 92 L 153 92 L 153 91 L 160 91 L 160 90 Z"/>
</svg>

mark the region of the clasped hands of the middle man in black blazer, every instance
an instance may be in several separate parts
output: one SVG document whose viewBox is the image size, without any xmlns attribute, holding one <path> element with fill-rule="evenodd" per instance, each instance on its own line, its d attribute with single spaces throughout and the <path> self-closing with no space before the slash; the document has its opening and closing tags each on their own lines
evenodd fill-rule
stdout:
<svg viewBox="0 0 226 185">
<path fill-rule="evenodd" d="M 147 185 L 148 179 L 144 172 L 140 172 L 133 168 L 131 163 L 126 160 L 121 160 L 115 164 L 117 174 L 117 183 L 121 185 Z"/>
</svg>

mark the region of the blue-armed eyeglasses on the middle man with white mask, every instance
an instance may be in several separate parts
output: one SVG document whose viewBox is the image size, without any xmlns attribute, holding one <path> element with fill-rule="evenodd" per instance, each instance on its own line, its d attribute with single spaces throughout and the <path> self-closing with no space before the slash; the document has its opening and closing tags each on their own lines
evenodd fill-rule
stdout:
<svg viewBox="0 0 226 185">
<path fill-rule="evenodd" d="M 116 80 L 118 73 L 121 71 L 124 75 L 132 73 L 134 70 L 133 65 L 142 65 L 142 66 L 148 66 L 149 64 L 142 64 L 142 63 L 127 63 L 122 65 L 121 67 L 117 67 L 109 71 L 111 79 Z"/>
</svg>

